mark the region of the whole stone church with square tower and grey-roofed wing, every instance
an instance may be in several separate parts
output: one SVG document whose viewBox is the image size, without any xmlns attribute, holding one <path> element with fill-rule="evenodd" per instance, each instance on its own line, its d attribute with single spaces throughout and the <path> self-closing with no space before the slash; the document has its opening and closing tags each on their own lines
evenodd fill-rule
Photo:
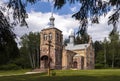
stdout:
<svg viewBox="0 0 120 81">
<path fill-rule="evenodd" d="M 69 43 L 63 46 L 62 31 L 54 27 L 55 18 L 50 17 L 50 26 L 40 32 L 40 69 L 94 69 L 92 39 L 86 44 L 74 44 L 74 32 Z"/>
</svg>

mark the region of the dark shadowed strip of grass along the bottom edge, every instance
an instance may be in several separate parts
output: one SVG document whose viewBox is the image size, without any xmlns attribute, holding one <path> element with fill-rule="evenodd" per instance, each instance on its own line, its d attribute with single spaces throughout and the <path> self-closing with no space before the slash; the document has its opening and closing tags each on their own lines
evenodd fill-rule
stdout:
<svg viewBox="0 0 120 81">
<path fill-rule="evenodd" d="M 120 76 L 45 76 L 46 74 L 0 77 L 0 81 L 120 81 Z"/>
</svg>

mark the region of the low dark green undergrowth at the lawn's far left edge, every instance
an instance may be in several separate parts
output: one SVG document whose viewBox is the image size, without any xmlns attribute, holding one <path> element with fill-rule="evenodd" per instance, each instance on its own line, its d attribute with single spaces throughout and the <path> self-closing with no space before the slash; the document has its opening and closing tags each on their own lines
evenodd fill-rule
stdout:
<svg viewBox="0 0 120 81">
<path fill-rule="evenodd" d="M 21 69 L 20 66 L 17 66 L 16 64 L 7 64 L 0 66 L 0 70 L 18 70 Z"/>
</svg>

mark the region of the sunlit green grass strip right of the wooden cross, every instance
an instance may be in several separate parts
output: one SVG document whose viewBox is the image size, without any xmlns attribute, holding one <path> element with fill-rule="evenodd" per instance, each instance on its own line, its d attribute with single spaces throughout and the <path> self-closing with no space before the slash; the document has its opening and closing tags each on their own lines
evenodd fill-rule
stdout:
<svg viewBox="0 0 120 81">
<path fill-rule="evenodd" d="M 120 69 L 99 69 L 99 70 L 59 70 L 58 76 L 120 76 Z"/>
</svg>

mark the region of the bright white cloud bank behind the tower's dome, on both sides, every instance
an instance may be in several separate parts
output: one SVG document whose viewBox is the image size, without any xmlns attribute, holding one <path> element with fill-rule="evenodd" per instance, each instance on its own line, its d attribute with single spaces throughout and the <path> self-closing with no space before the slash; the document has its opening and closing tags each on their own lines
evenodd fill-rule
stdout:
<svg viewBox="0 0 120 81">
<path fill-rule="evenodd" d="M 42 29 L 49 27 L 49 18 L 51 13 L 41 13 L 41 12 L 31 12 L 29 13 L 29 18 L 27 19 L 29 28 L 26 27 L 15 27 L 14 32 L 20 37 L 25 33 L 30 31 L 40 32 Z M 77 28 L 78 21 L 71 18 L 71 15 L 58 15 L 54 14 L 55 17 L 55 27 L 63 31 L 64 37 L 69 36 L 69 31 L 71 28 Z"/>
</svg>

